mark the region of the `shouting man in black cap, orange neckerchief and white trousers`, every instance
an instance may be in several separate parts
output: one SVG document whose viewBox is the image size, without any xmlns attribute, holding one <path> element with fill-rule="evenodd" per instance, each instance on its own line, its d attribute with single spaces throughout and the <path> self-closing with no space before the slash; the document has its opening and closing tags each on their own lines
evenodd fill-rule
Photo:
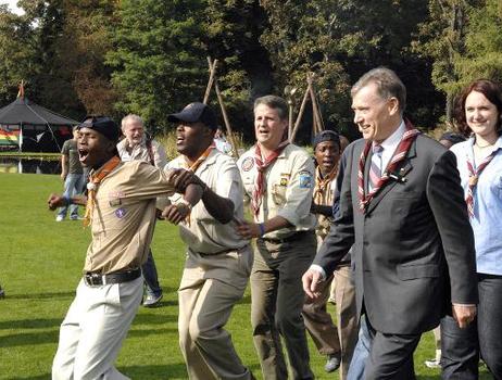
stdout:
<svg viewBox="0 0 502 380">
<path fill-rule="evenodd" d="M 89 167 L 87 200 L 51 194 L 49 208 L 86 203 L 85 225 L 91 226 L 84 277 L 61 325 L 53 380 L 128 379 L 113 366 L 142 296 L 141 264 L 155 220 L 155 199 L 174 193 L 175 172 L 141 162 L 122 163 L 120 129 L 109 117 L 88 117 L 79 127 L 80 163 Z M 170 210 L 179 221 L 202 190 L 190 185 L 185 199 Z"/>
</svg>

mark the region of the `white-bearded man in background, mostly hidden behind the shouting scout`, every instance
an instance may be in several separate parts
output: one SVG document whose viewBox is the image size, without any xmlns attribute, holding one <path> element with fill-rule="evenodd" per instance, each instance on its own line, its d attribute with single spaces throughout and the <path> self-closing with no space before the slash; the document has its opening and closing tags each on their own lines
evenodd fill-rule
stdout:
<svg viewBox="0 0 502 380">
<path fill-rule="evenodd" d="M 140 160 L 160 169 L 163 169 L 167 164 L 164 147 L 147 135 L 140 116 L 134 114 L 125 116 L 122 119 L 122 134 L 125 139 L 116 145 L 122 161 Z M 141 273 L 146 286 L 143 306 L 155 307 L 160 304 L 163 294 L 151 248 L 148 250 L 147 261 L 141 266 Z"/>
</svg>

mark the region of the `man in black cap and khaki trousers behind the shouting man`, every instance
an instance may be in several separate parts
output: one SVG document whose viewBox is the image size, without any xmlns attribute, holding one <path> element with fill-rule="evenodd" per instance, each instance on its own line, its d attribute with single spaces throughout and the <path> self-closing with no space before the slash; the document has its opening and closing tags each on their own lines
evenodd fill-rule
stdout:
<svg viewBox="0 0 502 380">
<path fill-rule="evenodd" d="M 243 218 L 242 183 L 234 160 L 215 149 L 216 121 L 211 109 L 190 103 L 167 118 L 177 123 L 178 157 L 168 168 L 185 169 L 176 190 L 190 182 L 204 188 L 202 202 L 180 224 L 188 245 L 179 286 L 179 345 L 188 377 L 198 380 L 252 379 L 224 330 L 234 305 L 242 299 L 253 254 L 234 229 Z M 177 195 L 171 198 L 177 201 Z M 171 220 L 171 213 L 166 217 Z"/>
</svg>

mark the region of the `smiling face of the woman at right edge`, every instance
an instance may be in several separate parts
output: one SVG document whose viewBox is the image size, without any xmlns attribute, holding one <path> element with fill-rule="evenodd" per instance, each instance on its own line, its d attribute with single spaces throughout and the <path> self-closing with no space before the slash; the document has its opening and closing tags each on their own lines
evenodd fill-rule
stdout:
<svg viewBox="0 0 502 380">
<path fill-rule="evenodd" d="M 485 139 L 497 138 L 500 113 L 485 94 L 472 91 L 465 98 L 465 119 L 476 136 Z"/>
</svg>

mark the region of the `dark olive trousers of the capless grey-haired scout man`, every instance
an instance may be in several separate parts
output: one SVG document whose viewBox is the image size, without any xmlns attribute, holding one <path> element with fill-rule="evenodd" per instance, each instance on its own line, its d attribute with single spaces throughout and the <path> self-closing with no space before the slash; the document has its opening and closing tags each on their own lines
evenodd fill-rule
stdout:
<svg viewBox="0 0 502 380">
<path fill-rule="evenodd" d="M 301 277 L 311 265 L 315 250 L 314 232 L 283 243 L 256 241 L 251 274 L 251 325 L 265 380 L 288 379 L 280 335 L 292 378 L 314 378 L 301 316 L 305 301 Z"/>
</svg>

